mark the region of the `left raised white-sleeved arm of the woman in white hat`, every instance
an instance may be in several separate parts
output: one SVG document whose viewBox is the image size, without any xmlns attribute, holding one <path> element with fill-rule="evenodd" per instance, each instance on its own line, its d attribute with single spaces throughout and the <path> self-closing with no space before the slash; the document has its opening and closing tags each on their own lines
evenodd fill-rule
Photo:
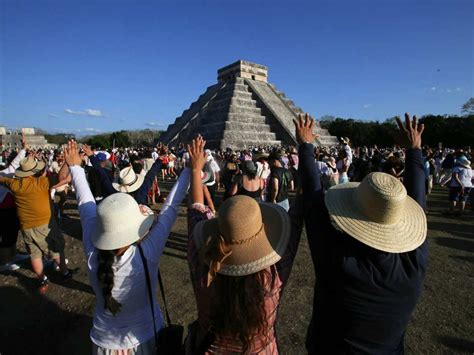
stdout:
<svg viewBox="0 0 474 355">
<path fill-rule="evenodd" d="M 77 143 L 75 141 L 69 141 L 68 147 L 64 151 L 64 159 L 69 165 L 73 185 L 76 190 L 82 225 L 82 243 L 84 252 L 87 254 L 94 248 L 90 236 L 96 224 L 97 206 L 87 183 L 84 169 L 81 168 L 82 159 L 77 150 Z"/>
</svg>

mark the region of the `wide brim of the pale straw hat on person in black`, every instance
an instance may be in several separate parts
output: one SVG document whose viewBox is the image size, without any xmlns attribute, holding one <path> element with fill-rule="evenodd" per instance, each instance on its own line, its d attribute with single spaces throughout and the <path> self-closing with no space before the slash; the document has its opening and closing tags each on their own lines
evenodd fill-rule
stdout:
<svg viewBox="0 0 474 355">
<path fill-rule="evenodd" d="M 333 186 L 325 196 L 331 221 L 359 242 L 388 253 L 404 253 L 419 247 L 426 239 L 426 215 L 421 206 L 407 196 L 400 221 L 381 224 L 370 220 L 357 208 L 354 192 L 360 183 Z"/>
</svg>

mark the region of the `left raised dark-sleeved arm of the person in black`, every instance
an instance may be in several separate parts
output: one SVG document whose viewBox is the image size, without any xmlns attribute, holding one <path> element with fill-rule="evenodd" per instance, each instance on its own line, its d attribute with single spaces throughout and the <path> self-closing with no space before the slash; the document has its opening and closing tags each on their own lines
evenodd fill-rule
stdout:
<svg viewBox="0 0 474 355">
<path fill-rule="evenodd" d="M 296 139 L 300 144 L 298 149 L 298 173 L 301 177 L 305 201 L 312 200 L 315 193 L 321 192 L 321 179 L 314 161 L 313 142 L 318 137 L 314 134 L 314 119 L 308 114 L 299 115 L 293 121 L 296 128 Z"/>
</svg>

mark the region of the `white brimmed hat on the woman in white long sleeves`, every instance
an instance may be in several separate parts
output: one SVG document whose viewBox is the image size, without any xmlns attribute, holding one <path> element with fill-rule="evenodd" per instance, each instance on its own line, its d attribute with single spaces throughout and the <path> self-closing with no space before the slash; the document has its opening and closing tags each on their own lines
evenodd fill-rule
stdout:
<svg viewBox="0 0 474 355">
<path fill-rule="evenodd" d="M 92 231 L 92 244 L 101 250 L 115 250 L 131 245 L 150 230 L 154 217 L 143 215 L 135 199 L 115 193 L 97 206 L 97 223 Z"/>
</svg>

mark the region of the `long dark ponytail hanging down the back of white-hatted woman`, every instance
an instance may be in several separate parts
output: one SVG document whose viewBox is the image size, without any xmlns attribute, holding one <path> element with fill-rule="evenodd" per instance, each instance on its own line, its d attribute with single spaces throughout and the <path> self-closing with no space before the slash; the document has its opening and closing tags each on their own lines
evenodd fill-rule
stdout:
<svg viewBox="0 0 474 355">
<path fill-rule="evenodd" d="M 115 252 L 113 250 L 100 250 L 99 267 L 97 268 L 97 279 L 102 287 L 102 296 L 104 297 L 104 307 L 113 315 L 120 312 L 122 305 L 112 297 L 112 288 L 114 287 L 114 270 L 112 264 L 115 260 Z"/>
</svg>

